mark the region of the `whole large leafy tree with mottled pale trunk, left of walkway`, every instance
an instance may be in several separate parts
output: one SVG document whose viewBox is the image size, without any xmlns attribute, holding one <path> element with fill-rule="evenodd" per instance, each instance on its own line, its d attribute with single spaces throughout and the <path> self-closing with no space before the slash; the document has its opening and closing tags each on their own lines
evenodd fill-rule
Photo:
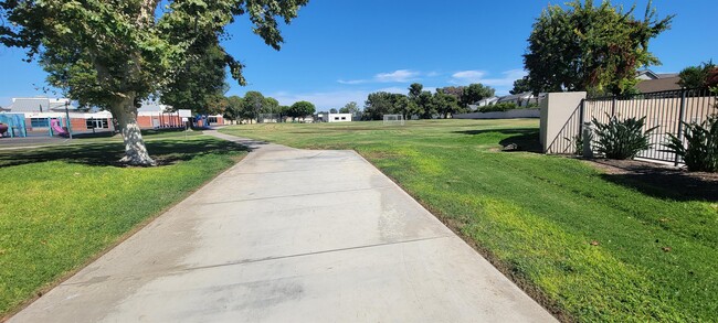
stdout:
<svg viewBox="0 0 718 323">
<path fill-rule="evenodd" d="M 0 0 L 0 42 L 27 49 L 28 61 L 39 58 L 49 83 L 81 105 L 109 109 L 125 139 L 123 161 L 146 165 L 154 161 L 137 126 L 139 103 L 172 89 L 182 73 L 192 74 L 188 63 L 207 49 L 219 51 L 214 54 L 244 85 L 242 64 L 219 46 L 224 28 L 247 13 L 254 33 L 278 50 L 277 19 L 289 23 L 307 2 Z"/>
</svg>

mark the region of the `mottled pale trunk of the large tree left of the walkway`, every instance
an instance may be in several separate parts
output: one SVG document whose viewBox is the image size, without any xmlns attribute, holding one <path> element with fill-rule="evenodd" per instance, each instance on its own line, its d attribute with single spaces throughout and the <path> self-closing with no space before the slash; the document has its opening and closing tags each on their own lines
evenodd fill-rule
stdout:
<svg viewBox="0 0 718 323">
<path fill-rule="evenodd" d="M 119 162 L 130 165 L 154 166 L 155 160 L 149 157 L 142 132 L 137 125 L 137 107 L 135 96 L 126 96 L 113 103 L 110 107 L 113 116 L 119 123 L 123 140 L 125 142 L 125 157 Z"/>
</svg>

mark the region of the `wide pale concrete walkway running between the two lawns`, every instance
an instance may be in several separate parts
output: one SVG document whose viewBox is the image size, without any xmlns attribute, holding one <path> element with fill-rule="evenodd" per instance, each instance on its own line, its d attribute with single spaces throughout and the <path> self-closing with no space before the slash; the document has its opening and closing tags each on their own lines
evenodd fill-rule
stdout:
<svg viewBox="0 0 718 323">
<path fill-rule="evenodd" d="M 11 321 L 553 321 L 356 152 L 242 142 L 241 163 Z"/>
</svg>

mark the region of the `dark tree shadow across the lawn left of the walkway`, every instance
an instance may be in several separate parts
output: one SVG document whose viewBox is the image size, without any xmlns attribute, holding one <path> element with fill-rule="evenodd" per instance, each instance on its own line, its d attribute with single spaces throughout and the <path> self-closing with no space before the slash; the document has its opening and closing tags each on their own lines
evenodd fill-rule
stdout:
<svg viewBox="0 0 718 323">
<path fill-rule="evenodd" d="M 196 139 L 188 141 L 146 142 L 150 155 L 161 165 L 189 161 L 207 154 L 229 154 L 247 151 L 247 148 L 230 141 Z M 0 166 L 12 166 L 47 161 L 64 161 L 96 166 L 125 166 L 118 161 L 124 154 L 122 142 L 87 143 L 0 152 Z"/>
</svg>

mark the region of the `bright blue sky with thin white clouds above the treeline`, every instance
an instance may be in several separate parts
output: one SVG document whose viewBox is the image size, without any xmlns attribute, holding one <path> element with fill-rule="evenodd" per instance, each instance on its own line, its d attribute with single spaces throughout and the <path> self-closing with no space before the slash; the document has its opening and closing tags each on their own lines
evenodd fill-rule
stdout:
<svg viewBox="0 0 718 323">
<path fill-rule="evenodd" d="M 595 1 L 596 3 L 599 1 Z M 647 1 L 636 1 L 643 14 Z M 446 6 L 450 3 L 451 6 Z M 284 105 L 313 101 L 319 109 L 363 105 L 377 90 L 405 93 L 419 82 L 429 89 L 483 83 L 505 94 L 521 77 L 526 39 L 548 1 L 312 0 L 276 52 L 250 30 L 244 17 L 230 26 L 224 45 L 246 65 L 250 83 L 230 82 L 228 95 L 260 90 Z M 561 3 L 561 1 L 553 1 Z M 634 1 L 613 1 L 630 7 Z M 715 0 L 656 0 L 659 17 L 676 14 L 673 28 L 650 50 L 663 62 L 655 72 L 679 72 L 718 61 Z M 12 97 L 43 95 L 44 73 L 21 62 L 23 52 L 0 47 L 0 106 Z"/>
</svg>

